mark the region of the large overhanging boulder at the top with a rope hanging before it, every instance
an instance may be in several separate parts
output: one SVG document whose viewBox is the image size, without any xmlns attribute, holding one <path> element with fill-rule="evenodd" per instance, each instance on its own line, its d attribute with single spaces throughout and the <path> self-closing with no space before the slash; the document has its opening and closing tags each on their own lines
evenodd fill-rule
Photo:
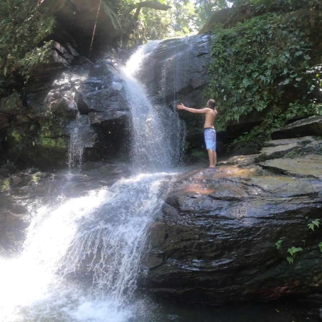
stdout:
<svg viewBox="0 0 322 322">
<path fill-rule="evenodd" d="M 113 11 L 120 10 L 120 13 Z M 127 49 L 146 42 L 143 24 L 132 11 L 135 8 L 120 8 L 117 0 L 51 0 L 40 1 L 43 14 L 57 18 L 60 28 L 67 31 L 86 57 L 97 52 L 106 52 L 107 47 Z M 95 32 L 94 32 L 95 26 Z M 60 30 L 54 32 L 59 39 Z"/>
</svg>

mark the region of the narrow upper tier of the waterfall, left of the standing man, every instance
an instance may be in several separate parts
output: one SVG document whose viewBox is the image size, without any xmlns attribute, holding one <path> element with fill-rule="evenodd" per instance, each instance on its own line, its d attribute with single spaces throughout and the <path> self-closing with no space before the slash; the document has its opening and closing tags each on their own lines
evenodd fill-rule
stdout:
<svg viewBox="0 0 322 322">
<path fill-rule="evenodd" d="M 185 126 L 177 114 L 148 99 L 145 86 L 135 79 L 159 43 L 153 41 L 139 47 L 119 74 L 125 81 L 132 113 L 131 159 L 139 171 L 172 169 L 185 143 Z"/>
</svg>

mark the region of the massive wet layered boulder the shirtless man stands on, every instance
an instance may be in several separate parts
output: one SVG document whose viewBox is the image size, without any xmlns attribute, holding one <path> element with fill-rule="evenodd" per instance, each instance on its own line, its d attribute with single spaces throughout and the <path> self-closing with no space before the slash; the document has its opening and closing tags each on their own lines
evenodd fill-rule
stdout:
<svg viewBox="0 0 322 322">
<path fill-rule="evenodd" d="M 321 136 L 272 140 L 180 175 L 151 226 L 145 286 L 212 304 L 321 292 L 321 232 L 308 226 L 321 218 L 321 148 Z"/>
</svg>

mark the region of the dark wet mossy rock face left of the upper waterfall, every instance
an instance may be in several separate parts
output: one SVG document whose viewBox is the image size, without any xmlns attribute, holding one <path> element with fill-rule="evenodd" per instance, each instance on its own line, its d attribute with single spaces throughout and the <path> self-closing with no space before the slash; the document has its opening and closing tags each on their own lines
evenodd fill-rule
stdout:
<svg viewBox="0 0 322 322">
<path fill-rule="evenodd" d="M 89 159 L 122 154 L 129 111 L 111 62 L 93 63 L 71 45 L 52 45 L 48 63 L 33 70 L 26 95 L 1 99 L 1 158 L 48 170 L 66 166 L 71 143 L 86 148 Z"/>
</svg>

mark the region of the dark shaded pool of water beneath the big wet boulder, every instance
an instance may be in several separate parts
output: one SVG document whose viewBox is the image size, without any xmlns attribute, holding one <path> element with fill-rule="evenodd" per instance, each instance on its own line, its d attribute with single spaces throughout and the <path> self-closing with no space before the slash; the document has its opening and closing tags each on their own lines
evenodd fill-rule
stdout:
<svg viewBox="0 0 322 322">
<path fill-rule="evenodd" d="M 209 306 L 159 299 L 133 322 L 320 322 L 318 313 L 316 305 L 300 301 Z"/>
</svg>

